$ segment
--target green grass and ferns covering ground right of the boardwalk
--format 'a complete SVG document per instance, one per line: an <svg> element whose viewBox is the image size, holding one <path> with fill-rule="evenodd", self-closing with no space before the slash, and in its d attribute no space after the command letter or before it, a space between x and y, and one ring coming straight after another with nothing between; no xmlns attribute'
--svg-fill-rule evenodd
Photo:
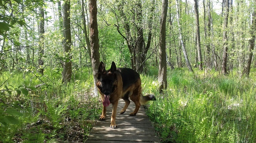
<svg viewBox="0 0 256 143"><path fill-rule="evenodd" d="M169 70L159 94L153 76L144 92L156 95L147 114L161 142L256 142L255 77Z"/></svg>

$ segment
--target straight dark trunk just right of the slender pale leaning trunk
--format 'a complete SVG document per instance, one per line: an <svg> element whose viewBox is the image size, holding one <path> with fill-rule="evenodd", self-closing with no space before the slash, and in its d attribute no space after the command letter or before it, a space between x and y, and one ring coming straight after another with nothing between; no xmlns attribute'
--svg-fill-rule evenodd
<svg viewBox="0 0 256 143"><path fill-rule="evenodd" d="M196 35L197 35L197 53L198 53L198 65L199 70L203 70L203 60L202 60L202 52L201 52L201 41L200 41L200 28L199 28L199 13L198 13L198 3L197 0L195 2L195 17L196 17Z"/></svg>

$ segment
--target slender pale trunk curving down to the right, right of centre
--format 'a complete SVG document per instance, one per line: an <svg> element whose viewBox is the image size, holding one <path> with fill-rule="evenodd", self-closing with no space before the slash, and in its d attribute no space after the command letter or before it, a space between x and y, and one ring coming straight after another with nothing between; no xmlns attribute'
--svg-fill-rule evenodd
<svg viewBox="0 0 256 143"><path fill-rule="evenodd" d="M177 23L178 23L178 29L179 29L179 39L180 39L180 42L181 42L181 46L182 46L182 50L183 50L183 53L184 53L184 57L185 57L185 61L186 61L187 67L188 67L190 72L194 73L194 71L193 71L193 69L192 69L192 67L190 65L190 62L188 60L188 57L187 57L187 52L186 52L186 48L185 48L185 45L184 45L184 42L183 42L182 33L181 33L179 2L178 2L178 0L175 0L175 2L176 2Z"/></svg>

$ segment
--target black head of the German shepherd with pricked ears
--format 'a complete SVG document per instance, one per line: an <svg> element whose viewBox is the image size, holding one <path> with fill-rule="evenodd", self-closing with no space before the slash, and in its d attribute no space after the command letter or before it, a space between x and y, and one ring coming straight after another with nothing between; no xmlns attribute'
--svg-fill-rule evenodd
<svg viewBox="0 0 256 143"><path fill-rule="evenodd" d="M109 70L105 70L105 66L103 62L100 62L98 69L98 82L97 87L100 92L105 96L109 96L111 92L114 90L114 82L116 80L116 64L113 61L111 68Z"/></svg>

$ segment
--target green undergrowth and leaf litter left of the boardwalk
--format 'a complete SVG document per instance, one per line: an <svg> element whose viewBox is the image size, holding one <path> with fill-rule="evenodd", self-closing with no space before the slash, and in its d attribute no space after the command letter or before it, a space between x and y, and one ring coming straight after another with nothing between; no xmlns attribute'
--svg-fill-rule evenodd
<svg viewBox="0 0 256 143"><path fill-rule="evenodd" d="M0 142L84 142L101 112L89 70L74 70L67 85L62 69L45 69L43 76L32 69L3 72Z"/></svg>

